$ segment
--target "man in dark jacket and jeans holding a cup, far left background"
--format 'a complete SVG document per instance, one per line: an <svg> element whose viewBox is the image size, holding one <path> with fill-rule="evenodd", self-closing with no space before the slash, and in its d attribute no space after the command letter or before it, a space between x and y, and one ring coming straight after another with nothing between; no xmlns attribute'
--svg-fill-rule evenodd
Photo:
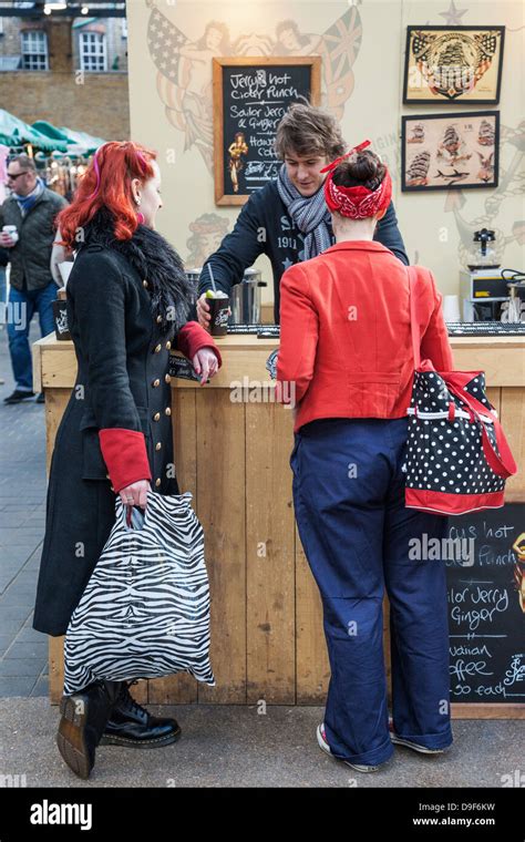
<svg viewBox="0 0 525 842"><path fill-rule="evenodd" d="M11 195L0 206L0 247L9 249L11 264L7 320L16 388L4 403L20 403L34 396L28 339L34 312L39 314L42 336L54 330L52 302L58 287L50 269L53 224L68 203L44 186L29 155L11 158L7 175ZM6 225L14 226L16 232L4 232Z"/></svg>

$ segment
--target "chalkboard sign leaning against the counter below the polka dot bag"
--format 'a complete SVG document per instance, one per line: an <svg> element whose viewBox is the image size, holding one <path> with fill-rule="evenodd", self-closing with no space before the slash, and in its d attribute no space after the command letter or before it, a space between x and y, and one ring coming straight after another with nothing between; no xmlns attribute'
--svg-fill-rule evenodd
<svg viewBox="0 0 525 842"><path fill-rule="evenodd" d="M525 504L451 517L449 540L451 701L524 705Z"/></svg>

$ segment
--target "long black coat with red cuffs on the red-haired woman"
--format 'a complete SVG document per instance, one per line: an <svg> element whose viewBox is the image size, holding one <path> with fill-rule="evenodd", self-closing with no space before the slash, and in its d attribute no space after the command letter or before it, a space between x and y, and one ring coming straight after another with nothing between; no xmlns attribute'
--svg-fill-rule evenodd
<svg viewBox="0 0 525 842"><path fill-rule="evenodd" d="M121 244L117 250L103 236L92 238L78 253L71 270L68 321L79 370L52 455L33 620L33 627L48 635L65 634L115 521L116 492L99 430L142 431L153 491L179 493L168 414L168 358L169 343L175 347L178 328L191 314L191 292L184 298L182 290L184 300L177 302L178 327L177 319L167 326L162 308L169 299L159 294L157 277L163 244L159 235L143 230L141 249L132 243L132 264L126 246ZM142 266L137 255L145 258ZM169 265L161 269L169 271ZM178 279L184 279L181 264L178 269ZM193 327L194 335L200 330L203 338L193 341L192 353L214 345L199 326Z"/></svg>

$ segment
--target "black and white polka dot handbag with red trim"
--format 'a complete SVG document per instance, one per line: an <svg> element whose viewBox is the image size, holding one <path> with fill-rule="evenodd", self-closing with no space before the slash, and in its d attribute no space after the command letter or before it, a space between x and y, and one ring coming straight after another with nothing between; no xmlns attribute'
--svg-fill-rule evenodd
<svg viewBox="0 0 525 842"><path fill-rule="evenodd" d="M408 410L405 505L446 515L498 509L505 479L517 469L485 394L485 374L439 372L430 360L421 362L416 275L412 269L409 274L415 372Z"/></svg>

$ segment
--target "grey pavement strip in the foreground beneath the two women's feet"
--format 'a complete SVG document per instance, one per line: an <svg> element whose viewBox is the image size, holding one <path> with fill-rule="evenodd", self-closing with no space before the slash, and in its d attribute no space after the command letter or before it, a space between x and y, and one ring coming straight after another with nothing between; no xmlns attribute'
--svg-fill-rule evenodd
<svg viewBox="0 0 525 842"><path fill-rule="evenodd" d="M321 708L181 705L174 746L137 751L99 748L90 781L64 766L54 745L58 709L45 699L0 699L0 771L27 787L502 787L523 763L523 723L457 721L446 754L397 748L381 772L361 774L317 747ZM25 776L22 779L22 776Z"/></svg>

